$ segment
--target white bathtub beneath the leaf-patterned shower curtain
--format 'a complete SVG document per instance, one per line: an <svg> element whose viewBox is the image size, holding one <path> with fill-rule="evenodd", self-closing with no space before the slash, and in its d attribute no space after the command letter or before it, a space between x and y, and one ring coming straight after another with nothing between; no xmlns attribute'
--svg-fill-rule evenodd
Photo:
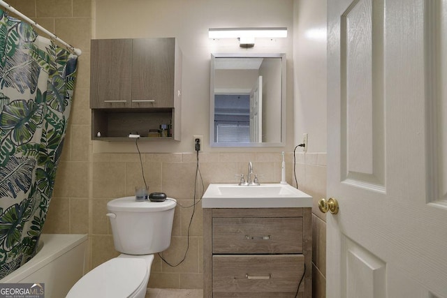
<svg viewBox="0 0 447 298"><path fill-rule="evenodd" d="M87 234L41 234L39 246L34 258L0 283L45 283L45 298L66 297L85 273Z"/></svg>

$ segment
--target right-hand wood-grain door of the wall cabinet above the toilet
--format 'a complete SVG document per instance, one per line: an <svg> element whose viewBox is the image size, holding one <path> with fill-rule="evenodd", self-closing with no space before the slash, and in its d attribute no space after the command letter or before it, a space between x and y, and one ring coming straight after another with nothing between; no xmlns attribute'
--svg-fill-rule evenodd
<svg viewBox="0 0 447 298"><path fill-rule="evenodd" d="M175 38L133 40L132 107L174 107Z"/></svg>

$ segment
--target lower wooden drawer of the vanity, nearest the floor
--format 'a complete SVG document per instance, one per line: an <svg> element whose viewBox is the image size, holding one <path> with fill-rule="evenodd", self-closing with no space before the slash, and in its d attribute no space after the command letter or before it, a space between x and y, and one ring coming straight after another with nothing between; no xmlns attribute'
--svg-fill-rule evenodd
<svg viewBox="0 0 447 298"><path fill-rule="evenodd" d="M213 255L213 298L295 297L304 263L304 255Z"/></svg>

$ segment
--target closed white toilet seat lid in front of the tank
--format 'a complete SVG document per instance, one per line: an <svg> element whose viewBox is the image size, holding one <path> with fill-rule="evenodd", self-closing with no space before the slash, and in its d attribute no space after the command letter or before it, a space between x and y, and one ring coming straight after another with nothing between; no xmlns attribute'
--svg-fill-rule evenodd
<svg viewBox="0 0 447 298"><path fill-rule="evenodd" d="M113 258L82 277L67 298L133 297L150 274L147 262L140 258ZM146 285L144 285L146 288Z"/></svg>

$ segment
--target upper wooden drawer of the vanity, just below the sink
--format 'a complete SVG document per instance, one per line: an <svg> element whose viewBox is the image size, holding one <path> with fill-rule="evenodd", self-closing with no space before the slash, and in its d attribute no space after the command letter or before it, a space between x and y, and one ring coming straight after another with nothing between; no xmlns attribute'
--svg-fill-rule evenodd
<svg viewBox="0 0 447 298"><path fill-rule="evenodd" d="M212 253L302 253L302 217L212 218Z"/></svg>

